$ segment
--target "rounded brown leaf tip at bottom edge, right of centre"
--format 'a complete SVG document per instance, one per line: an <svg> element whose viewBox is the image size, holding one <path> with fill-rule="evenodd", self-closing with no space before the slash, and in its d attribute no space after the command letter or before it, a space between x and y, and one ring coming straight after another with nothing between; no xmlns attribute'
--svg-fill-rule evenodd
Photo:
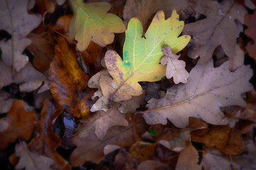
<svg viewBox="0 0 256 170"><path fill-rule="evenodd" d="M192 146L183 149L179 154L179 159L175 167L176 170L191 169L191 170L201 170L202 166L197 164L199 162L199 154L196 149Z"/></svg>

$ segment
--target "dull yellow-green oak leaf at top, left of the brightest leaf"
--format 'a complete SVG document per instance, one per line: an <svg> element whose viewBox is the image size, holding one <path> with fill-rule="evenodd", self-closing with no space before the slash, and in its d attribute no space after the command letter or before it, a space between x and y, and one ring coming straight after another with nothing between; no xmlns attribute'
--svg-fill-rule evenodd
<svg viewBox="0 0 256 170"><path fill-rule="evenodd" d="M107 13L111 5L107 2L87 3L82 0L69 0L74 12L70 23L70 39L78 41L79 51L87 49L93 41L101 47L113 42L113 33L123 33L126 26L118 16Z"/></svg>

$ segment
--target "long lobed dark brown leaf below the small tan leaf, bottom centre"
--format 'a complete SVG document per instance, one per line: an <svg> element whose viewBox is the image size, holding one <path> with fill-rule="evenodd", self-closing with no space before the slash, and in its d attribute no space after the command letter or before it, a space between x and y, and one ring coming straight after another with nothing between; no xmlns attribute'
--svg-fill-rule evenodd
<svg viewBox="0 0 256 170"><path fill-rule="evenodd" d="M143 118L135 115L128 115L128 127L113 126L108 129L103 140L99 140L94 132L87 137L79 137L79 132L74 136L74 145L77 148L72 152L69 160L72 166L79 166L86 161L99 162L104 157L106 145L118 145L120 147L131 147L141 139L141 135L148 130L148 125Z"/></svg>

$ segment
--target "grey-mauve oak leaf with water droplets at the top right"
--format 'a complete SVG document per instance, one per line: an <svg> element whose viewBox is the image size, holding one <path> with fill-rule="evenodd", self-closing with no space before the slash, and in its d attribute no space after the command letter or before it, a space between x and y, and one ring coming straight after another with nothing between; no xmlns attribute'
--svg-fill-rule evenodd
<svg viewBox="0 0 256 170"><path fill-rule="evenodd" d="M218 1L200 0L196 1L193 8L206 18L189 23L184 28L184 33L193 35L191 42L194 47L189 52L189 57L200 56L201 64L206 64L218 45L223 47L228 58L235 57L237 54L234 49L238 34L235 21L244 23L244 16L247 13L245 8L233 0L225 0L221 4ZM239 65L242 66L243 61Z"/></svg>

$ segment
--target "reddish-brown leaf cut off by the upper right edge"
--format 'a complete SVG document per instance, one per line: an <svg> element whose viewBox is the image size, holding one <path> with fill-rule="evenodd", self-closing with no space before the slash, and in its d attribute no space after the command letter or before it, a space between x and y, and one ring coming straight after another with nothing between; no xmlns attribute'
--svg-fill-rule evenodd
<svg viewBox="0 0 256 170"><path fill-rule="evenodd" d="M254 41L253 44L249 44L246 46L246 50L249 53L250 57L256 60L256 12L254 12L252 15L245 15L245 25L248 27L248 29L245 30L245 35L252 38L252 40Z"/></svg>

